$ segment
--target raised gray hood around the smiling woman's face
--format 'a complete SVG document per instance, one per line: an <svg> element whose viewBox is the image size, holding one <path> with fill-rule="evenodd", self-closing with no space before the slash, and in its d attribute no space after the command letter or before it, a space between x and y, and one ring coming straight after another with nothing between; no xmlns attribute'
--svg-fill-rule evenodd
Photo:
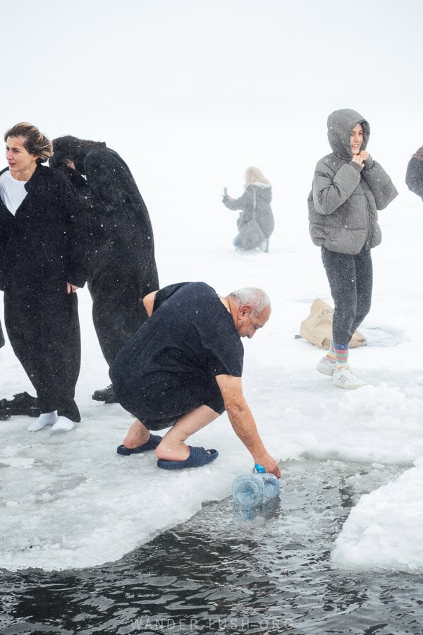
<svg viewBox="0 0 423 635"><path fill-rule="evenodd" d="M351 159L350 135L357 123L363 126L363 143L361 150L365 150L369 142L369 123L355 110L348 108L333 111L328 117L328 139L333 152L343 159Z"/></svg>

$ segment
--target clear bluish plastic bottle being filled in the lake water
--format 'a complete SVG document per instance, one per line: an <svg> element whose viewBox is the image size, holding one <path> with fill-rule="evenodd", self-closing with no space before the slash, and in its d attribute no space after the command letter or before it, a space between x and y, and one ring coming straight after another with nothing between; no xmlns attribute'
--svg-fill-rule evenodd
<svg viewBox="0 0 423 635"><path fill-rule="evenodd" d="M243 474L233 481L232 496L240 509L254 509L279 493L279 481L274 474L266 473L262 465L255 465L251 474Z"/></svg>

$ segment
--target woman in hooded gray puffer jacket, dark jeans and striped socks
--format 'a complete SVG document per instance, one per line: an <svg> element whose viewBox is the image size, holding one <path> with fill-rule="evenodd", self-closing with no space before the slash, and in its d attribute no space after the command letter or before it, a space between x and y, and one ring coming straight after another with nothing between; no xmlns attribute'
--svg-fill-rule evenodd
<svg viewBox="0 0 423 635"><path fill-rule="evenodd" d="M333 339L317 370L341 388L364 386L348 367L348 348L372 301L372 256L381 242L377 210L398 195L384 169L366 151L369 123L350 109L328 118L333 152L317 163L309 193L309 231L321 258L335 303Z"/></svg>

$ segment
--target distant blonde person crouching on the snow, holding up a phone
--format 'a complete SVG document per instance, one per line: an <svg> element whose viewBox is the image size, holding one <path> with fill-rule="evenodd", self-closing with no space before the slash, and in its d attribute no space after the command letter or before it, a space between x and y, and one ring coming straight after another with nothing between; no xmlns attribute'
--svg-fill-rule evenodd
<svg viewBox="0 0 423 635"><path fill-rule="evenodd" d="M237 226L238 236L233 239L233 245L237 249L252 249L256 246L262 251L269 250L269 238L274 231L274 215L271 211L271 183L266 179L263 172L255 167L249 167L245 170L245 192L240 198L232 198L231 196L223 196L223 205L228 210L242 210L240 213ZM245 227L253 218L256 219L257 225L262 230L261 240L257 238L257 245L254 247L243 246L243 227Z"/></svg>

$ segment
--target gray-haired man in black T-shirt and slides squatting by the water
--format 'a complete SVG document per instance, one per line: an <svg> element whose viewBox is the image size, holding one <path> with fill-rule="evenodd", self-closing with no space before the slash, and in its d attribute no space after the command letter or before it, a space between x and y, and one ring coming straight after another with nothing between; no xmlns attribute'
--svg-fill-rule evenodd
<svg viewBox="0 0 423 635"><path fill-rule="evenodd" d="M153 291L144 305L149 319L110 370L118 401L137 417L118 454L155 449L157 465L165 469L210 463L218 456L215 449L185 441L226 410L254 462L281 476L259 436L241 380L240 337L252 337L269 320L269 297L255 288L221 297L204 282L183 282ZM163 438L149 432L169 426Z"/></svg>

